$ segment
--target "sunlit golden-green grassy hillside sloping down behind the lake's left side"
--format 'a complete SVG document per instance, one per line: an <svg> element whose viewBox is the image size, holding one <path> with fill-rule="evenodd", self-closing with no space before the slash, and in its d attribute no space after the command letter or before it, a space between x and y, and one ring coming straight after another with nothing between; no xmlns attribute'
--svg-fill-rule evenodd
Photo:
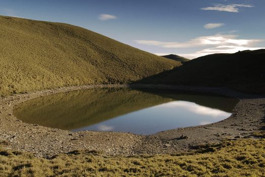
<svg viewBox="0 0 265 177"><path fill-rule="evenodd" d="M129 83L180 65L90 30L0 16L0 95Z"/></svg>

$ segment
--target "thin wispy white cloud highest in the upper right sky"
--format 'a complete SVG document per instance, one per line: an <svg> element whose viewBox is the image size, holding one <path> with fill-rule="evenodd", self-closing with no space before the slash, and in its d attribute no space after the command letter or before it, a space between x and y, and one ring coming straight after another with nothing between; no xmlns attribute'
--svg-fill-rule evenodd
<svg viewBox="0 0 265 177"><path fill-rule="evenodd" d="M225 12L239 12L239 8L252 8L252 5L246 4L230 4L230 5L222 5L222 4L215 4L213 7L206 7L201 8L201 10L210 10L210 11L225 11Z"/></svg>

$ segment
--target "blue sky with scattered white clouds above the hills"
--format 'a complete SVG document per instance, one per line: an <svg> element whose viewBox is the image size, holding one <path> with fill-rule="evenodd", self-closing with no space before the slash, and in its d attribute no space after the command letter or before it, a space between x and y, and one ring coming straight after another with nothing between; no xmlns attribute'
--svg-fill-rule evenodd
<svg viewBox="0 0 265 177"><path fill-rule="evenodd" d="M84 27L189 59L265 48L264 0L0 0L0 15Z"/></svg>

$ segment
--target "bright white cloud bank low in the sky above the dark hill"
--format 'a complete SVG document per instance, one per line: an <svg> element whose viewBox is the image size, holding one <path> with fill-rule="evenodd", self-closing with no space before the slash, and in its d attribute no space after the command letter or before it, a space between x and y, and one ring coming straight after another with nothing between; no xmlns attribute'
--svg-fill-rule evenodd
<svg viewBox="0 0 265 177"><path fill-rule="evenodd" d="M230 31L236 32L236 31ZM245 50L258 50L265 49L265 46L256 47L259 42L264 41L263 39L241 39L238 35L234 34L215 34L212 36L201 36L186 42L163 42L154 40L137 40L137 43L144 45L158 46L161 48L196 48L201 49L192 53L177 53L182 57L188 59L194 59L197 57L214 54L214 53L235 53L238 51ZM174 53L173 53L174 54ZM156 55L168 55L168 53L157 53Z"/></svg>

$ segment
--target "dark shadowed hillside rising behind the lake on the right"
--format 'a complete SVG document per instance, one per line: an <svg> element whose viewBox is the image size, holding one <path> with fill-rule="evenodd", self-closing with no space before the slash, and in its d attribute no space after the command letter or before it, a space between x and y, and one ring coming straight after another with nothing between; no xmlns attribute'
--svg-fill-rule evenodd
<svg viewBox="0 0 265 177"><path fill-rule="evenodd" d="M141 80L141 83L223 86L265 94L265 50L213 54Z"/></svg>

